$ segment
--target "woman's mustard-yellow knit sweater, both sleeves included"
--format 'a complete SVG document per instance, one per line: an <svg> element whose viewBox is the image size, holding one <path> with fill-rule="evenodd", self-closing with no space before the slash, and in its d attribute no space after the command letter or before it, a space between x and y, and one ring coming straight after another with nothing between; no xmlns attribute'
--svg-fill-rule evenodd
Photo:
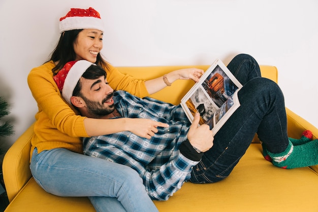
<svg viewBox="0 0 318 212"><path fill-rule="evenodd" d="M35 115L35 135L31 140L31 155L37 147L38 153L52 148L67 148L76 153L83 152L80 137L88 137L85 117L66 103L53 80L52 61L30 71L27 82L31 93L38 103L39 111ZM109 65L106 69L107 81L114 90L127 90L139 97L148 96L144 81L120 73Z"/></svg>

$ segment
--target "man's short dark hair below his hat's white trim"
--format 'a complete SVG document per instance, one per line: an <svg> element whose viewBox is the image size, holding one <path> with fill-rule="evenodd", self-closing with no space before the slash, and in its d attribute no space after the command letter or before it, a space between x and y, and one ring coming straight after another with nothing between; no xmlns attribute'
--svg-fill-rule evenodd
<svg viewBox="0 0 318 212"><path fill-rule="evenodd" d="M86 69L86 71L82 74L82 77L84 77L85 79L98 79L101 76L104 76L106 78L106 72L105 70L97 65L91 65L90 67L88 67L88 69ZM80 82L80 80L78 80L74 90L73 90L73 95L75 97L83 97L81 94L81 89L82 89L82 84Z"/></svg>

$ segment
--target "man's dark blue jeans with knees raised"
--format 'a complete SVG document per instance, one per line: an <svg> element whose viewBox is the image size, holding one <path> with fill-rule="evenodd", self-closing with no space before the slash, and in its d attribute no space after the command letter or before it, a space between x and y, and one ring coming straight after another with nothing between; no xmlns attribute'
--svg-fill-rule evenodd
<svg viewBox="0 0 318 212"><path fill-rule="evenodd" d="M212 148L193 168L193 183L226 178L255 133L272 153L283 152L289 144L284 98L278 85L261 77L259 65L250 55L237 55L228 68L243 85L238 93L241 106L216 133Z"/></svg>

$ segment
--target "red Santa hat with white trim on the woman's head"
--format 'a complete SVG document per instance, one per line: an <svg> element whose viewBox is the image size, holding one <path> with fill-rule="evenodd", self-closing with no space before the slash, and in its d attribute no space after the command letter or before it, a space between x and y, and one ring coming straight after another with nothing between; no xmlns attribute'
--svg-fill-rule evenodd
<svg viewBox="0 0 318 212"><path fill-rule="evenodd" d="M59 19L59 32L73 29L99 29L104 32L104 23L99 12L93 8L79 9L71 8L66 16Z"/></svg>

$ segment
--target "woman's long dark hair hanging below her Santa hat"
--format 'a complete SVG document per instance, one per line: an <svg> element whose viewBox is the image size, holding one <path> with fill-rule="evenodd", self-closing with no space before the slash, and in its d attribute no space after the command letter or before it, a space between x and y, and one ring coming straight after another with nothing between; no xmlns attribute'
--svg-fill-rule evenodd
<svg viewBox="0 0 318 212"><path fill-rule="evenodd" d="M58 64L52 69L53 75L65 66L66 63L76 59L76 53L74 51L74 42L76 41L78 34L83 29L73 29L63 32L59 38L56 48L52 52L50 60L58 62ZM49 61L50 61L49 60ZM107 62L103 59L101 53L97 55L96 63L107 68Z"/></svg>

